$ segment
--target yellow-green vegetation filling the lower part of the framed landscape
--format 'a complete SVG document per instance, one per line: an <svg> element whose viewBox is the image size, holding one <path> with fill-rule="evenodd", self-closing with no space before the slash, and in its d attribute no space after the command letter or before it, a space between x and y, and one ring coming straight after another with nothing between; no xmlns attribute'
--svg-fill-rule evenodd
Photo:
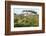
<svg viewBox="0 0 46 36"><path fill-rule="evenodd" d="M38 15L14 15L14 27L36 27L39 24Z"/></svg>

